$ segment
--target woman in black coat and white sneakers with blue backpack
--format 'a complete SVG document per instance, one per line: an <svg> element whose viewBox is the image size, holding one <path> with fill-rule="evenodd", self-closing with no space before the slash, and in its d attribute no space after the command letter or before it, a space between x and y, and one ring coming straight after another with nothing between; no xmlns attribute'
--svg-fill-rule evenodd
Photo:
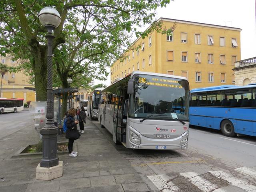
<svg viewBox="0 0 256 192"><path fill-rule="evenodd" d="M70 108L68 110L68 115L66 116L66 138L68 139L68 152L70 157L76 157L77 152L73 151L73 143L74 140L80 137L78 130L76 128L76 124L78 124L78 120L75 120L76 109Z"/></svg>

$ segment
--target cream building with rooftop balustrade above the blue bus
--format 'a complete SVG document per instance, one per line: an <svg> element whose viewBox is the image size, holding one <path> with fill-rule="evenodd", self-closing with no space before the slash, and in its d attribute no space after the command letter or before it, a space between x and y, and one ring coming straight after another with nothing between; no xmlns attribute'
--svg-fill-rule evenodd
<svg viewBox="0 0 256 192"><path fill-rule="evenodd" d="M233 71L235 85L243 86L256 83L256 57L236 62Z"/></svg>

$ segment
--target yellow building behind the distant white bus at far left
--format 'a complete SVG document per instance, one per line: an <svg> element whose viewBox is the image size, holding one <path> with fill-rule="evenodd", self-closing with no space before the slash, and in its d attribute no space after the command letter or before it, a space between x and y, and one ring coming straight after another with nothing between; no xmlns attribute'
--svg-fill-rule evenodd
<svg viewBox="0 0 256 192"><path fill-rule="evenodd" d="M12 56L0 56L0 62L7 66L18 66L19 62L12 60ZM29 84L30 76L26 76L22 72L12 73L7 72L3 76L2 94L0 97L6 98L24 98L24 103L27 101L36 100L36 92L25 89L24 87L34 87Z"/></svg>

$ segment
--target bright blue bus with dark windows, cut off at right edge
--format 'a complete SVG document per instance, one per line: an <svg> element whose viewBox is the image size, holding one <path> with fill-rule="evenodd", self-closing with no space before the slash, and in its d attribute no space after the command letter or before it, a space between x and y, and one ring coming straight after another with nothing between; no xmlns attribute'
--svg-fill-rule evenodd
<svg viewBox="0 0 256 192"><path fill-rule="evenodd" d="M221 130L228 137L256 136L256 84L191 90L190 124Z"/></svg>

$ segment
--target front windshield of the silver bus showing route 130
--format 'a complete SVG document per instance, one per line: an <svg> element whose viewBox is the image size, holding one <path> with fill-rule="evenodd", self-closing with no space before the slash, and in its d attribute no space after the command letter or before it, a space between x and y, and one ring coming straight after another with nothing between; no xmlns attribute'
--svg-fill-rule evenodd
<svg viewBox="0 0 256 192"><path fill-rule="evenodd" d="M130 118L188 121L189 84L178 78L136 74Z"/></svg>

